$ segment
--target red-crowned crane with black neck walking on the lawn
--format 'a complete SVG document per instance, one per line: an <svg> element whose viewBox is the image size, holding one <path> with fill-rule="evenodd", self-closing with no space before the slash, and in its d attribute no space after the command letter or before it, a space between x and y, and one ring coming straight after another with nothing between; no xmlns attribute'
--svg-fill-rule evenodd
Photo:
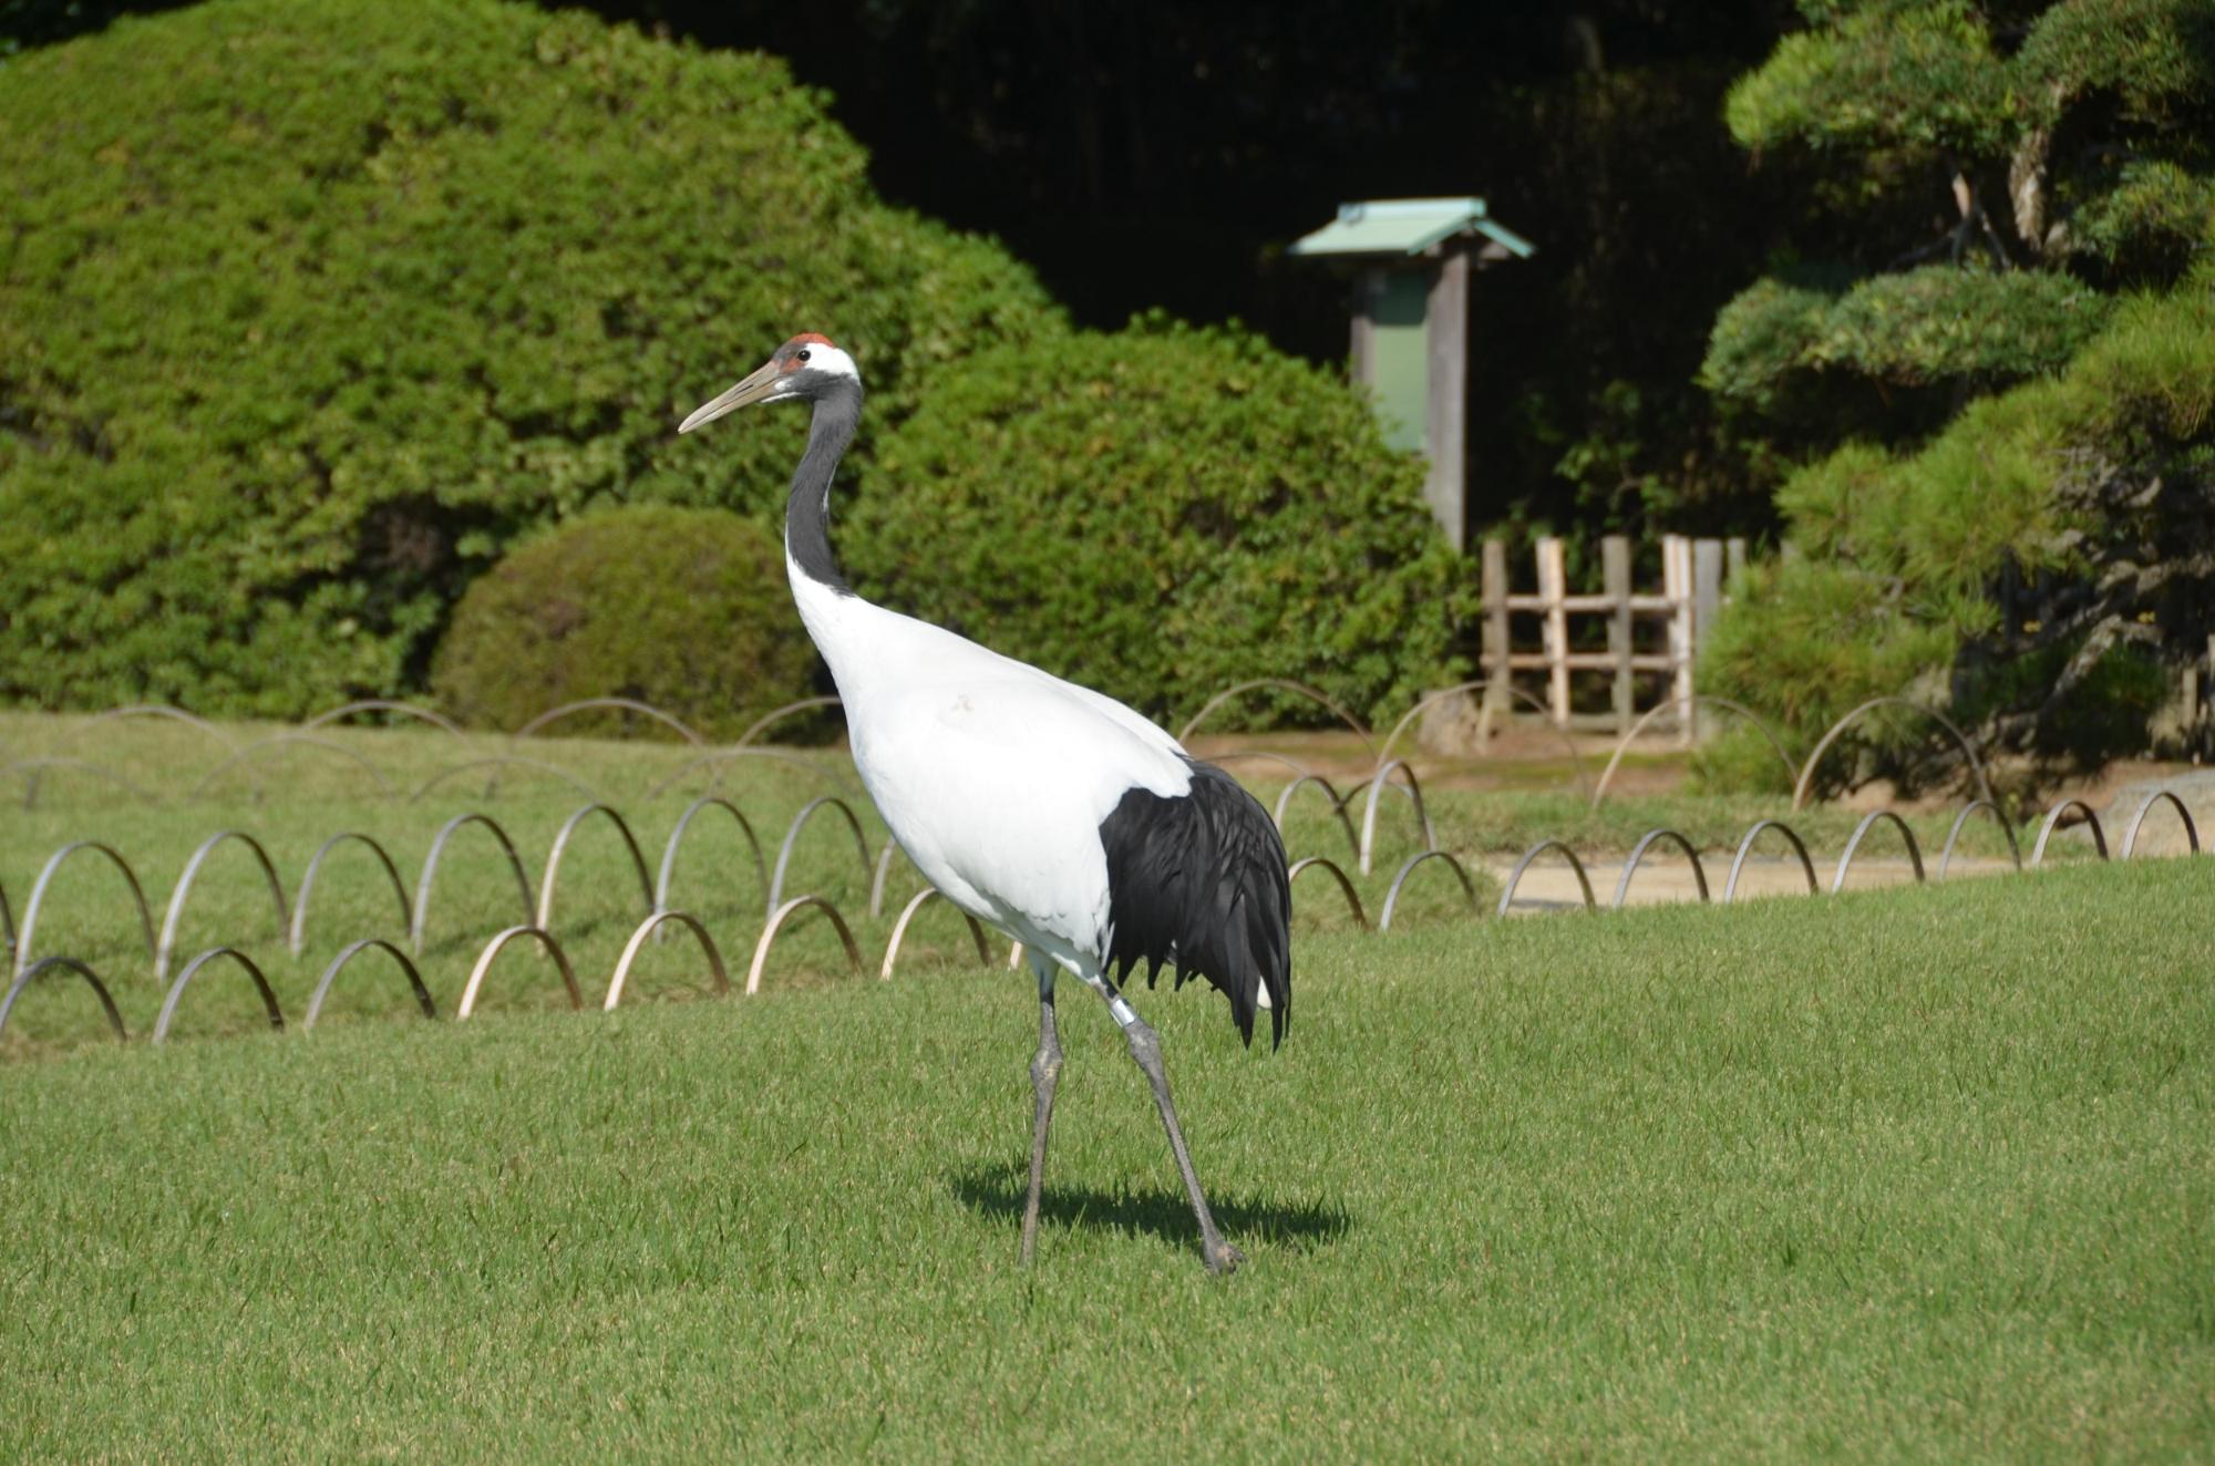
<svg viewBox="0 0 2215 1466"><path fill-rule="evenodd" d="M1291 888L1276 826L1236 780L1114 698L855 596L831 556L828 518L831 476L862 421L862 374L828 337L793 337L678 432L782 401L815 403L784 505L784 565L846 704L862 782L917 870L1021 941L1039 979L1023 1262L1061 1076L1054 977L1072 972L1105 999L1154 1087L1207 1269L1232 1271L1245 1258L1216 1231L1192 1171L1161 1039L1116 983L1132 963L1145 963L1147 981L1170 963L1178 985L1201 974L1229 997L1247 1043L1256 1008L1282 1041Z"/></svg>

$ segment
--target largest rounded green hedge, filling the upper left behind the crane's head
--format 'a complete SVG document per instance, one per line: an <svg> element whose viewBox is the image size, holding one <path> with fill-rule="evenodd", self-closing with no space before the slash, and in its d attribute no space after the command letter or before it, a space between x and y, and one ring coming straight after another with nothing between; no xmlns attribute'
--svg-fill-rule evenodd
<svg viewBox="0 0 2215 1466"><path fill-rule="evenodd" d="M777 62L492 0L235 0L22 53L0 173L9 700L401 691L536 525L769 512L800 421L671 425L793 330L868 363L884 425L1059 321L879 206Z"/></svg>

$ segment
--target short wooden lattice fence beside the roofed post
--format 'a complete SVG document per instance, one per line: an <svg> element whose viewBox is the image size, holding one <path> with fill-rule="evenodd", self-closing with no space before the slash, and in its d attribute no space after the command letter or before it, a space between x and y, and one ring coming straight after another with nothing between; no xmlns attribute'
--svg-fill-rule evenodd
<svg viewBox="0 0 2215 1466"><path fill-rule="evenodd" d="M1513 720L1517 706L1508 691L1515 673L1544 671L1546 720L1559 729L1606 729L1628 733L1639 713L1655 704L1690 706L1692 673L1699 647L1723 605L1723 585L1745 565L1745 540L1694 540L1681 534L1661 538L1661 589L1639 591L1630 585L1630 540L1610 534L1599 540L1597 593L1568 589L1568 551L1559 538L1535 545L1537 593L1515 591L1508 582L1508 549L1484 540L1484 720L1486 726ZM1517 649L1515 618L1537 613L1537 649ZM1606 649L1577 651L1570 618L1606 618ZM1663 622L1659 649L1637 649L1637 622ZM1595 638L1582 638L1590 644ZM1613 673L1606 711L1577 711L1570 673ZM1659 686L1659 698L1639 706L1639 673L1657 673L1646 682ZM1694 737L1699 717L1679 713L1675 722L1681 742Z"/></svg>

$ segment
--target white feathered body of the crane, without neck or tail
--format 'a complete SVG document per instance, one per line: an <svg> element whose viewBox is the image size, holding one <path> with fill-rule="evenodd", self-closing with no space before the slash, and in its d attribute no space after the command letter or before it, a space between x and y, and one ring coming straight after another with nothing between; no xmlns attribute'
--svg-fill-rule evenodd
<svg viewBox="0 0 2215 1466"><path fill-rule="evenodd" d="M1114 698L844 596L786 558L853 762L915 868L1063 970L1108 950L1101 822L1130 788L1192 788L1183 749Z"/></svg>

